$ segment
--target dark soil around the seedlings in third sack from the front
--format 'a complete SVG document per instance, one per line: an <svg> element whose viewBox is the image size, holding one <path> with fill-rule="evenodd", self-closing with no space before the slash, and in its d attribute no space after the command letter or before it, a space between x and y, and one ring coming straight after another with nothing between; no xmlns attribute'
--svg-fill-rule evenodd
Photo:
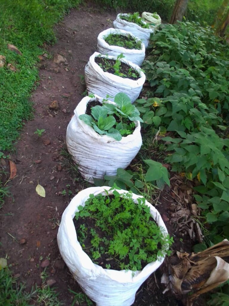
<svg viewBox="0 0 229 306"><path fill-rule="evenodd" d="M113 66L116 63L116 60L97 56L95 57L94 61L103 69L104 72L109 72L112 74L115 73ZM109 65L107 65L107 63L109 63ZM140 74L135 69L123 62L121 62L119 73L124 74L124 76L120 76L124 79L138 80L140 78ZM128 76L128 73L130 76ZM134 73L136 76L131 76L132 73Z"/></svg>

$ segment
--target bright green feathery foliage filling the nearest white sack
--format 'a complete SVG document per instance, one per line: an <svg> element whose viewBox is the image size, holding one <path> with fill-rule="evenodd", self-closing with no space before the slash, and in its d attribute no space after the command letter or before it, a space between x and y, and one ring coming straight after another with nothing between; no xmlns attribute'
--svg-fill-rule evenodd
<svg viewBox="0 0 229 306"><path fill-rule="evenodd" d="M112 195L90 194L85 206L78 206L76 220L83 222L77 237L88 256L95 263L101 256L112 258L120 270L136 271L169 253L172 238L154 222L146 200L139 197L135 203L131 192L110 190Z"/></svg>

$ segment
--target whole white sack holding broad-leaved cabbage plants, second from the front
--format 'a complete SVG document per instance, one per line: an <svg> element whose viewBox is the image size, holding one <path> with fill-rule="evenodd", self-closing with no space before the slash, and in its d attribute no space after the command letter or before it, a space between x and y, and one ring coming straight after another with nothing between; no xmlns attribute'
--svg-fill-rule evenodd
<svg viewBox="0 0 229 306"><path fill-rule="evenodd" d="M115 102L85 97L68 124L66 144L86 180L116 175L126 168L142 145L142 119L129 97L119 93Z"/></svg>

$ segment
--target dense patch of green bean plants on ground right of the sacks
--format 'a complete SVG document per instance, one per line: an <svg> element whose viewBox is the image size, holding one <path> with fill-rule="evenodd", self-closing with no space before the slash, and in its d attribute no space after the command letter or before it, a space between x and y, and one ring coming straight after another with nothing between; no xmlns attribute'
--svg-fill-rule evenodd
<svg viewBox="0 0 229 306"><path fill-rule="evenodd" d="M228 55L211 28L162 25L143 65L150 96L135 102L146 129L170 132L165 161L195 182L211 243L229 237Z"/></svg>

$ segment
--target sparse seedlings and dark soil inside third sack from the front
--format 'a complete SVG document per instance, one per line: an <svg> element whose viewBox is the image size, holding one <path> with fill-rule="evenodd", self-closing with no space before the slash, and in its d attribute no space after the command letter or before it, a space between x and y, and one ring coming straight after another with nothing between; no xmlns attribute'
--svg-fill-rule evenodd
<svg viewBox="0 0 229 306"><path fill-rule="evenodd" d="M95 62L98 63L104 72L113 73L116 76L131 78L133 80L139 79L140 74L135 69L120 61L124 57L123 53L121 53L117 56L116 60L113 60L100 54L100 56L95 58Z"/></svg>

